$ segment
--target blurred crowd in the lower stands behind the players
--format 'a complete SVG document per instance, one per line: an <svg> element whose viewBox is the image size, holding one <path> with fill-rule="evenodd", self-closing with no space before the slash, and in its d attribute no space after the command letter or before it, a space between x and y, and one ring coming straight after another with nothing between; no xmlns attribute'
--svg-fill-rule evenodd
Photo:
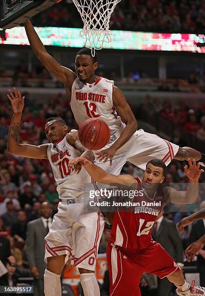
<svg viewBox="0 0 205 296"><path fill-rule="evenodd" d="M19 141L21 143L34 145L47 143L44 134L44 124L49 117L60 116L65 119L70 130L78 128L70 105L62 95L59 94L56 97L50 98L49 104L41 104L31 98L29 93L24 95L26 96L26 105L19 134ZM147 96L141 109L146 112L147 116L157 112L159 116L174 120L189 133L195 133L197 137L205 140L205 106L190 109L183 102L173 106L168 100L162 103L158 99L153 101ZM136 111L133 109L137 118L139 114ZM9 239L10 243L10 253L6 253L4 258L5 265L10 268L8 257L12 255L15 257L15 271L12 269L14 271L12 271L13 274L17 270L20 273L23 272L24 275L27 274L27 276L35 277L37 271L29 265L28 253L26 251L28 225L30 225L28 223L46 215L46 219L48 217L52 219L57 212L59 199L51 166L47 160L25 159L7 152L7 134L12 115L10 104L6 104L5 101L3 102L0 99L0 237ZM179 145L186 145L186 143L181 142L180 134L177 135L177 133L173 141ZM177 183L177 188L186 190L188 179L183 170L184 165L185 162L177 161L173 161L169 165L165 185ZM132 174L142 178L143 171L130 163L126 163L122 174ZM204 175L201 177L201 182L203 181L205 181ZM201 185L196 204L171 207L166 217L176 224L181 218L197 211L203 205L205 207L205 202L203 204L205 188L203 184ZM47 203L46 208L44 206L45 203ZM180 237L184 248L188 246L190 233L191 226L187 227ZM104 233L99 252L106 252L108 238L109 233ZM13 278L13 280L15 279ZM147 281L146 279L143 280L142 285ZM147 296L149 294L144 295Z"/></svg>

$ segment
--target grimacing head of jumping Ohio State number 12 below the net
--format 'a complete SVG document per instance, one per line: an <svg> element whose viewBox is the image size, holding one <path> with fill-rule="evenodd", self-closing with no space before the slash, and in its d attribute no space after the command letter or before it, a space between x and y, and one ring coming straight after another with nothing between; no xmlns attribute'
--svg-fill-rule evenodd
<svg viewBox="0 0 205 296"><path fill-rule="evenodd" d="M81 81L92 83L90 78L94 78L98 63L93 63L92 57L88 55L77 55L75 58L75 71Z"/></svg>

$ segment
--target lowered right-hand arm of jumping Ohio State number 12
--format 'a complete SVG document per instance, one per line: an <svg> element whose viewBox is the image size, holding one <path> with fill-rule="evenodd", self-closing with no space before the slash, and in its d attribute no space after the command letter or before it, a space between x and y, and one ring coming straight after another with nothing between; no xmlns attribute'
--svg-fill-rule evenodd
<svg viewBox="0 0 205 296"><path fill-rule="evenodd" d="M118 115L126 124L126 127L122 131L117 141L110 148L96 153L99 155L99 161L105 162L110 159L110 165L112 165L112 159L117 150L122 147L137 130L137 121L134 117L134 114L132 113L131 107L127 103L123 92L116 86L113 86L113 104L117 109Z"/></svg>

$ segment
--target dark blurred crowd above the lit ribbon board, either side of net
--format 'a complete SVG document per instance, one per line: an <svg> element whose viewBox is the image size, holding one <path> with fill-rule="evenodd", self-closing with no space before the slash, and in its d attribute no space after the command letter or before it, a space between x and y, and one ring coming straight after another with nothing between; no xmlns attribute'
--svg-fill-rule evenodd
<svg viewBox="0 0 205 296"><path fill-rule="evenodd" d="M62 0L33 17L33 23L38 27L83 27L72 0ZM121 0L110 19L111 30L203 33L204 28L204 0Z"/></svg>

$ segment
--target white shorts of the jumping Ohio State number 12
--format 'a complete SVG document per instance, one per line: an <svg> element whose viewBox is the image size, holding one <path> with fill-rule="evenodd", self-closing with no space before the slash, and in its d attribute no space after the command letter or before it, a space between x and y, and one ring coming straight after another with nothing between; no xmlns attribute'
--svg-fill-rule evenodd
<svg viewBox="0 0 205 296"><path fill-rule="evenodd" d="M113 143L114 141L110 141L103 149L109 148ZM161 159L168 165L175 157L178 149L179 146L160 138L156 134L139 130L132 135L127 143L117 150L112 166L110 166L109 160L103 163L96 159L95 164L102 167L108 174L119 175L123 165L127 161L143 170L146 169L146 163L152 159Z"/></svg>

